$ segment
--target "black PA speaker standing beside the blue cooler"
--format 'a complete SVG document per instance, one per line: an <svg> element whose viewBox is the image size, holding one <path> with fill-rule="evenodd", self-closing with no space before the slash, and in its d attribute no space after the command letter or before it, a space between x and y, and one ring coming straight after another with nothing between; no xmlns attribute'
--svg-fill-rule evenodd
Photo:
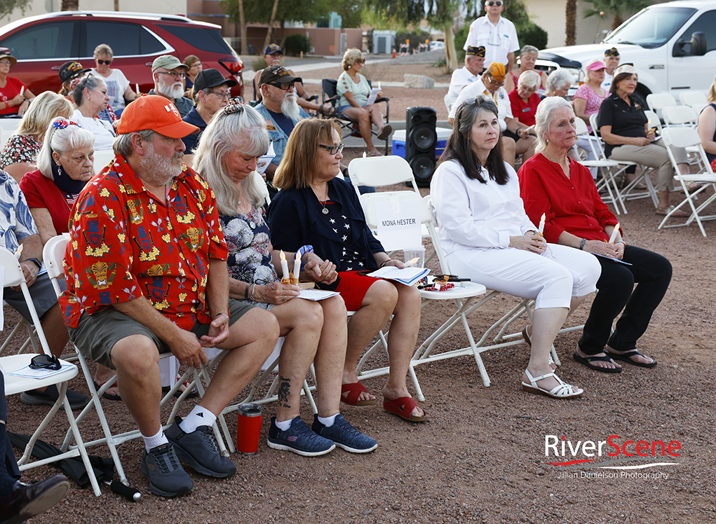
<svg viewBox="0 0 716 524"><path fill-rule="evenodd" d="M432 107L408 107L405 112L405 159L420 187L430 186L435 171L437 116Z"/></svg>

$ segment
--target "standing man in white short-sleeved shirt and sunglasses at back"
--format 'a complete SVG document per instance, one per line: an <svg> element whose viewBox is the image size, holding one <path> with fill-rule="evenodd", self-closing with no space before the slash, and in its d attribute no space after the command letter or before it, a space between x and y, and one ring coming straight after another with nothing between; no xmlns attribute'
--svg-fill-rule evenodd
<svg viewBox="0 0 716 524"><path fill-rule="evenodd" d="M470 24L468 39L463 49L470 46L485 47L485 63L499 62L507 71L515 64L515 51L520 49L515 24L501 16L505 9L503 0L485 1L485 13Z"/></svg>

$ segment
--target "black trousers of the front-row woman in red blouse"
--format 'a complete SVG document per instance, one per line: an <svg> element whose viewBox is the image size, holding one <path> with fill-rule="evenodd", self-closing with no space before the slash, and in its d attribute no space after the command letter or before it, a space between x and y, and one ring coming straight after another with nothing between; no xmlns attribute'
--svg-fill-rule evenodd
<svg viewBox="0 0 716 524"><path fill-rule="evenodd" d="M617 351L634 350L667 292L671 263L660 254L634 246L624 249L624 262L631 266L604 257L597 259L601 264L601 277L596 282L599 292L584 324L579 348L587 355L604 351L607 344ZM609 337L611 325L622 309L624 313Z"/></svg>

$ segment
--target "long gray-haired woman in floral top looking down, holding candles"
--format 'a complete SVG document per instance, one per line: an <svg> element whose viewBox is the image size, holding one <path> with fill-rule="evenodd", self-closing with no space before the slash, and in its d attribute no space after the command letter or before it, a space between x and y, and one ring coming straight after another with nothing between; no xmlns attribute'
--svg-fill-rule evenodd
<svg viewBox="0 0 716 524"><path fill-rule="evenodd" d="M377 447L340 415L341 370L346 351L346 307L339 295L319 302L297 299L299 287L282 284L279 252L263 221L263 179L256 160L269 149L266 120L255 109L232 101L206 127L195 166L211 185L226 238L229 297L263 307L286 337L279 356L279 406L271 418L269 447L299 455L329 453L335 445L353 453ZM294 251L299 251L295 249ZM289 270L294 253L287 253ZM333 282L335 265L301 249L304 278ZM289 277L289 275L281 275ZM311 362L316 368L318 415L312 427L300 416L301 385Z"/></svg>

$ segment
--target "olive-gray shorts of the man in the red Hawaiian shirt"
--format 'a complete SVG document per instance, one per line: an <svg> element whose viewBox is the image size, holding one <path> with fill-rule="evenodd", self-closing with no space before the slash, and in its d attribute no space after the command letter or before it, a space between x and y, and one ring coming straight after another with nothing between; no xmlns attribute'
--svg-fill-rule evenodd
<svg viewBox="0 0 716 524"><path fill-rule="evenodd" d="M228 309L231 312L231 317L228 320L229 325L233 325L253 307L246 302L230 298L228 300ZM202 335L208 335L209 325L196 322L190 331L200 338ZM150 338L160 353L169 351L169 346L148 327L127 317L124 313L120 313L114 307L106 307L94 315L82 313L82 317L79 317L79 325L69 328L69 337L77 346L77 350L82 352L82 355L112 369L115 369L110 357L112 347L115 347L115 344L123 338L132 335L144 335Z"/></svg>

